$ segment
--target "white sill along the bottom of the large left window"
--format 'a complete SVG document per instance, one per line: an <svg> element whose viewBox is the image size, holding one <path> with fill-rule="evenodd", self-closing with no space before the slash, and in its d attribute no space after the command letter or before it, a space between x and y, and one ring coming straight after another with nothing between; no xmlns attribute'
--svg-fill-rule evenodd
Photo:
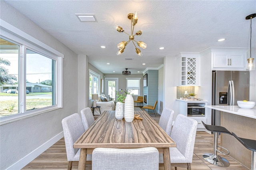
<svg viewBox="0 0 256 170"><path fill-rule="evenodd" d="M8 123L15 122L15 121L20 121L22 119L27 119L27 118L30 118L30 117L34 117L36 115L41 115L41 114L44 114L44 113L48 113L50 111L54 111L54 110L57 110L57 109L61 109L61 107L57 107L57 106L52 107L51 106L51 107L47 107L47 108L38 109L36 111L29 111L29 112L26 112L26 113L20 113L20 114L18 113L18 114L6 116L6 117L0 117L0 126L8 124Z"/></svg>

